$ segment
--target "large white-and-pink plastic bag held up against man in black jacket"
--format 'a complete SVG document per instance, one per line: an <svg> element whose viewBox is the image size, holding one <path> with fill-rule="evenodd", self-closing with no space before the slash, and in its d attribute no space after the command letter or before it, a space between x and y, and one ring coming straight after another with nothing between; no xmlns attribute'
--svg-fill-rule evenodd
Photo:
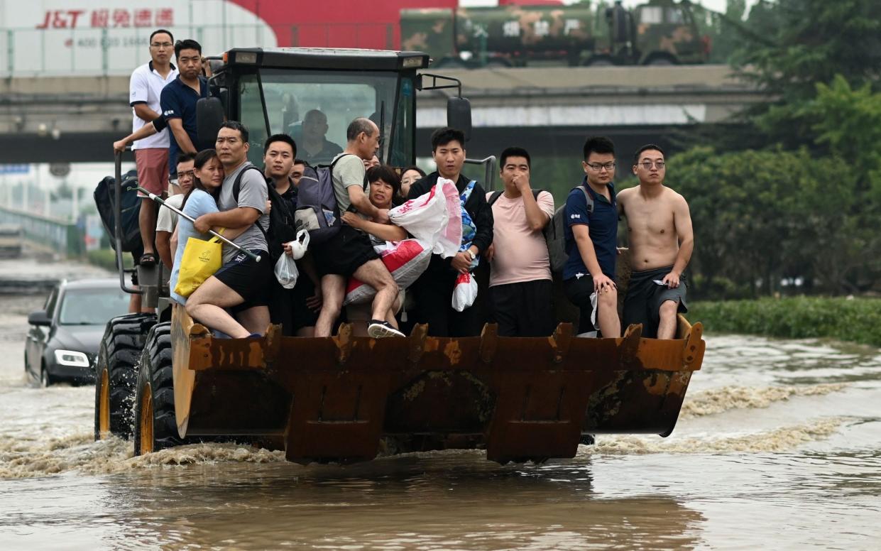
<svg viewBox="0 0 881 551"><path fill-rule="evenodd" d="M454 208L455 205L455 208ZM455 184L444 178L426 194L389 211L389 220L428 243L434 254L455 256L462 242L462 209Z"/></svg>

